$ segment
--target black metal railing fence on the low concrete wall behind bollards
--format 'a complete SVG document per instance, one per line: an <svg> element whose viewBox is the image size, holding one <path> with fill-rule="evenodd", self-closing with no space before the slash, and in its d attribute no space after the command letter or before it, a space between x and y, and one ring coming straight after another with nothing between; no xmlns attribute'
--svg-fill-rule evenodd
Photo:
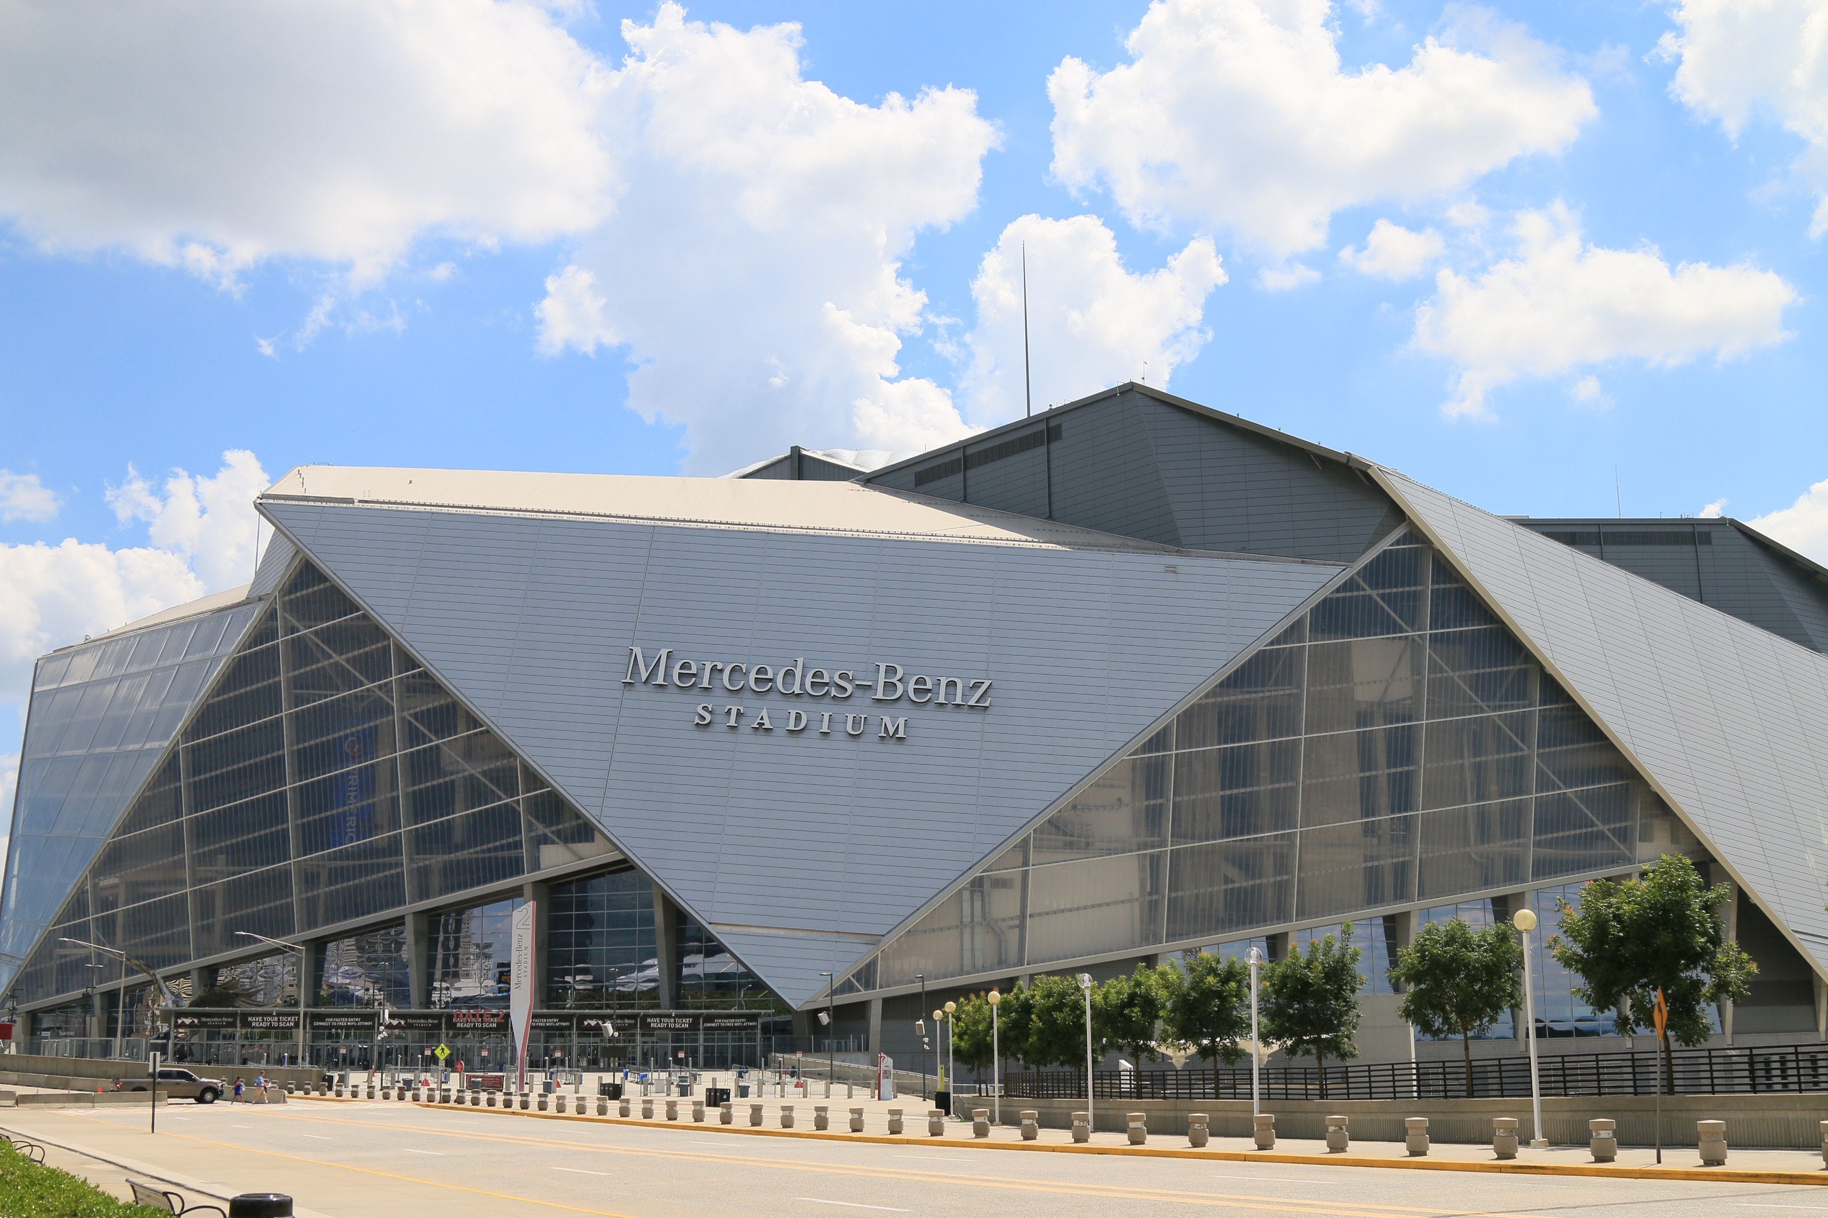
<svg viewBox="0 0 1828 1218"><path fill-rule="evenodd" d="M1537 1057L1545 1096L1654 1096L1658 1052L1554 1054ZM1250 1099L1250 1070L1188 1065L1183 1070L1099 1070L1099 1099ZM1828 1045L1771 1048L1678 1048L1671 1054L1669 1088L1678 1094L1828 1090ZM1387 1061L1263 1070L1265 1099L1462 1099L1462 1061ZM1011 1070L1004 1094L1022 1099L1079 1099L1084 1070ZM1528 1096L1530 1059L1473 1061L1472 1096Z"/></svg>

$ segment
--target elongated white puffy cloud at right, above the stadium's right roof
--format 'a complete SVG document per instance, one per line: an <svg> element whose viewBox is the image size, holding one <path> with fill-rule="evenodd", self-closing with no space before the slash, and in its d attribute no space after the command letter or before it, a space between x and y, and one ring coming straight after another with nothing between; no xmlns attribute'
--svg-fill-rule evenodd
<svg viewBox="0 0 1828 1218"><path fill-rule="evenodd" d="M1435 298L1417 307L1415 347L1459 367L1448 415L1484 416L1490 389L1525 378L1612 360L1729 360L1788 338L1797 289L1775 272L1592 247L1559 203L1521 212L1512 232L1514 257L1477 276L1439 272Z"/></svg>

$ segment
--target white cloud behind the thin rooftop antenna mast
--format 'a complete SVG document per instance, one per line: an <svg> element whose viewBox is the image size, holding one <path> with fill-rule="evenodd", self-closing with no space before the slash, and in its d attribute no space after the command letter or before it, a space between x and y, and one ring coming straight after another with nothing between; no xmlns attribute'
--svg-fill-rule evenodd
<svg viewBox="0 0 1828 1218"><path fill-rule="evenodd" d="M1168 385L1210 334L1206 296L1225 283L1212 241L1196 237L1166 267L1132 272L1097 215L1024 215L983 256L971 294L963 387L971 418L1000 424L1024 411L1022 247L1027 245L1029 367L1035 409L1124 380Z"/></svg>

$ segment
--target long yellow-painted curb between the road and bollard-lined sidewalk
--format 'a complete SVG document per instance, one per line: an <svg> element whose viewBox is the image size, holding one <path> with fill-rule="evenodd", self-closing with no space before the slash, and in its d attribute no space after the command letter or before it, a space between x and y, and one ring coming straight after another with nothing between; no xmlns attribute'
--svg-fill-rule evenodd
<svg viewBox="0 0 1828 1218"><path fill-rule="evenodd" d="M298 1096L325 1103L355 1103L335 1096ZM382 1103L364 1099L362 1103ZM399 1103L399 1101L388 1101ZM967 1147L972 1150L1024 1150L1029 1154L1117 1154L1128 1158L1155 1160L1201 1160L1208 1163L1309 1163L1318 1167L1387 1167L1397 1171L1424 1172L1490 1172L1512 1176L1601 1176L1610 1180L1711 1180L1716 1183L1784 1183L1784 1185L1828 1185L1828 1167L1824 1171L1737 1171L1729 1167L1605 1167L1600 1163L1514 1163L1497 1160L1428 1160L1428 1158L1367 1158L1356 1154L1278 1154L1274 1150L1196 1150L1192 1147L1095 1147L1080 1143L1046 1141L989 1141L980 1138L929 1138L918 1134L850 1134L843 1130L819 1132L813 1129L766 1129L753 1125L715 1125L711 1121L643 1121L640 1118L620 1116L579 1116L576 1112L521 1112L519 1108L472 1108L464 1105L441 1105L419 1101L415 1108L433 1108L439 1112L494 1112L499 1116L532 1118L537 1121L565 1121L567 1125L629 1125L636 1129L689 1129L693 1132L737 1134L746 1138L804 1138L813 1141L845 1141L883 1147ZM925 1118L921 1118L925 1119Z"/></svg>

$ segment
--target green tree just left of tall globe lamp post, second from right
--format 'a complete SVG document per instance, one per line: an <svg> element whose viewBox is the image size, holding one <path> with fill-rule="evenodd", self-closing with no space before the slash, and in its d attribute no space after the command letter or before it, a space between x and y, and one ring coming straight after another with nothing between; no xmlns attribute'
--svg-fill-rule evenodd
<svg viewBox="0 0 1828 1218"><path fill-rule="evenodd" d="M1466 1096L1473 1094L1473 1035L1492 1030L1504 1012L1523 1006L1523 944L1504 926L1473 929L1461 919L1429 922L1397 951L1389 979L1404 988L1397 1013L1422 1035L1459 1035Z"/></svg>

